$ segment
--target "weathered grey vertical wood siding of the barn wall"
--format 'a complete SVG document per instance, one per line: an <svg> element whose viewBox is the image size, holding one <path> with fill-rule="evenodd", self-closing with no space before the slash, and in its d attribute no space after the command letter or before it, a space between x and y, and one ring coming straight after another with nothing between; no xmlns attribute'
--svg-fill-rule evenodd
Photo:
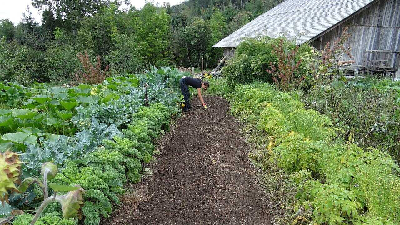
<svg viewBox="0 0 400 225"><path fill-rule="evenodd" d="M327 32L311 45L319 49L320 46L323 48L329 42L332 46L346 27L348 27L348 33L352 35L346 45L352 47L351 53L356 64L362 64L365 50L398 51L400 50L400 0L379 0ZM348 56L341 58L341 60L349 59ZM396 73L396 76L400 77L400 71Z"/></svg>

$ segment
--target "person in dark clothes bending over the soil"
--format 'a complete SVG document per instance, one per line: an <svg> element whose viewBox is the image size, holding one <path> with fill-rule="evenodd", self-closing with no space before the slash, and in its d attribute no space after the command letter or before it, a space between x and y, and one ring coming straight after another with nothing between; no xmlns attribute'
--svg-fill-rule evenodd
<svg viewBox="0 0 400 225"><path fill-rule="evenodd" d="M206 103L204 103L203 97L201 95L201 88L204 90L207 90L208 86L210 86L210 83L208 81L203 81L198 78L194 78L191 76L184 76L179 80L179 85L180 85L180 90L182 91L183 94L183 99L185 100L185 106L183 107L184 112L190 111L190 93L189 93L189 88L188 86L192 86L194 88L197 88L197 93L200 98L201 104L204 106L204 108L207 108Z"/></svg>

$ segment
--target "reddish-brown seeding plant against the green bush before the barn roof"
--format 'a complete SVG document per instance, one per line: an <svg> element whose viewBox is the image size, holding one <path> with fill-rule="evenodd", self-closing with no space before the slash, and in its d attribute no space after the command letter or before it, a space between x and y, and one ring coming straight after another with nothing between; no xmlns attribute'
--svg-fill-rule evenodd
<svg viewBox="0 0 400 225"><path fill-rule="evenodd" d="M297 77L295 74L302 61L296 61L298 46L286 54L283 43L284 41L281 39L278 46L272 46L274 48L273 52L278 56L278 68L270 62L271 70L267 70L267 72L272 74L272 80L274 80L278 88L281 90L290 90L304 80L304 76Z"/></svg>

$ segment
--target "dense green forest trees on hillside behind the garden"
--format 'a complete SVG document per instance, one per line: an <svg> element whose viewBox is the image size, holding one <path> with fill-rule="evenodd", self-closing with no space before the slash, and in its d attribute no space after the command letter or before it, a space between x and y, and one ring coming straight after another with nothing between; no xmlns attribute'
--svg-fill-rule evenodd
<svg viewBox="0 0 400 225"><path fill-rule="evenodd" d="M212 49L281 0L189 0L176 6L112 0L32 0L19 24L0 21L0 80L69 83L82 70L82 57L111 74L138 73L154 66L216 66L221 49ZM128 7L127 7L128 6Z"/></svg>

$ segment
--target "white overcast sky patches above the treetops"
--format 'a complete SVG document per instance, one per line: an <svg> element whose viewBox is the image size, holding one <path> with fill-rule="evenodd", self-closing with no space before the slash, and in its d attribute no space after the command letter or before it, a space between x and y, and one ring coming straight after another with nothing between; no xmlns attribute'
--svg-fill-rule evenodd
<svg viewBox="0 0 400 225"><path fill-rule="evenodd" d="M179 4L184 0L154 0L154 4L163 4L169 2L171 6ZM132 5L136 8L142 8L148 0L131 0ZM9 19L14 25L17 25L22 18L22 13L26 12L26 7L29 6L32 16L36 21L42 20L41 13L34 8L31 4L31 0L0 0L0 20Z"/></svg>

